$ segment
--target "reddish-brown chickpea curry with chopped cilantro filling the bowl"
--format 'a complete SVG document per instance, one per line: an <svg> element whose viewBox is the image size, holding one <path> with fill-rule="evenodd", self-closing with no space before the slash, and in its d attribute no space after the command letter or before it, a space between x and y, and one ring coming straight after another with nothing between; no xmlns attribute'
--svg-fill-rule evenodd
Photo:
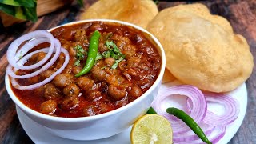
<svg viewBox="0 0 256 144"><path fill-rule="evenodd" d="M98 31L98 50L94 52L92 67L88 65L90 39ZM86 22L61 26L51 31L70 55L61 74L51 82L34 90L18 90L14 94L26 106L43 114L58 117L86 117L103 114L133 102L153 85L161 67L158 50L142 32L130 26L109 22ZM33 50L47 46L43 43ZM46 56L34 54L25 65L32 65ZM53 66L32 78L17 79L29 85L50 77L62 66L65 55L60 54ZM29 74L33 70L18 70Z"/></svg>

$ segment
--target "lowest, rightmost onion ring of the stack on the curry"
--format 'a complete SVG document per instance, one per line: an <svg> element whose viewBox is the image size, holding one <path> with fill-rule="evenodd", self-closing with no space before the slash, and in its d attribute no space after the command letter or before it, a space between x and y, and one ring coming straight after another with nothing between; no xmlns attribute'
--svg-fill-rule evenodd
<svg viewBox="0 0 256 144"><path fill-rule="evenodd" d="M69 52L64 49L64 48L61 48L61 51L62 53L65 54L65 61L62 65L62 67L60 67L56 72L54 72L54 74L50 75L49 78L46 78L45 80L43 80L42 82L38 82L38 83L35 83L33 85L29 85L29 86L20 86L18 84L18 82L15 80L15 78L10 78L10 82L12 83L12 85L16 88L16 89L19 89L19 90L33 90L33 89L36 89L40 86L43 86L45 85L46 83L50 82L52 79L54 79L54 77L60 73L62 73L62 71L65 69L65 67L67 66L67 64L69 63L70 61L70 55L69 55Z"/></svg>

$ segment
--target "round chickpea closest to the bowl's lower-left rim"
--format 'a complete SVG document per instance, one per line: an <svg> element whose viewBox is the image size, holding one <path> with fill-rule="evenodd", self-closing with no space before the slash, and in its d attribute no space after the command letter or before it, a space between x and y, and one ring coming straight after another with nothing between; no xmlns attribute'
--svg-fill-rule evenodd
<svg viewBox="0 0 256 144"><path fill-rule="evenodd" d="M48 100L46 102L42 102L40 106L40 111L43 114L54 114L57 109L57 102L54 100Z"/></svg>

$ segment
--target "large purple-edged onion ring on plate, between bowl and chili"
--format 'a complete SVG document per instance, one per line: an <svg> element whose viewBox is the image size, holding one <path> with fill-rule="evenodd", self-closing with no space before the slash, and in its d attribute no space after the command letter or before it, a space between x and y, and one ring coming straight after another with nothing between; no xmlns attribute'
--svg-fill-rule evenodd
<svg viewBox="0 0 256 144"><path fill-rule="evenodd" d="M161 105L166 100L166 98L170 98L174 94L185 95L191 99L193 102L193 107L191 109L190 117L194 118L195 122L201 122L202 119L206 116L206 98L202 94L201 90L198 90L197 87L189 86L189 85L181 85L181 86L173 86L165 89L161 95L158 95L157 98L154 99L152 106L156 112L164 117L166 117L174 130L174 134L181 134L190 130L188 126L184 124L181 120L174 121L173 118L170 117L170 114L166 113L166 110L161 109Z"/></svg>

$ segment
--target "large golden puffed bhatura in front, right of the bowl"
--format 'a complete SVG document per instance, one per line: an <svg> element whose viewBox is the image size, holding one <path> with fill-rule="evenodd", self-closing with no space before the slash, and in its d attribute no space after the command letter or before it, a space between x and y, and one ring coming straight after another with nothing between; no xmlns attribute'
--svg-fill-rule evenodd
<svg viewBox="0 0 256 144"><path fill-rule="evenodd" d="M230 23L201 4L162 10L147 30L162 43L166 67L179 81L212 92L234 90L250 77L253 56Z"/></svg>

